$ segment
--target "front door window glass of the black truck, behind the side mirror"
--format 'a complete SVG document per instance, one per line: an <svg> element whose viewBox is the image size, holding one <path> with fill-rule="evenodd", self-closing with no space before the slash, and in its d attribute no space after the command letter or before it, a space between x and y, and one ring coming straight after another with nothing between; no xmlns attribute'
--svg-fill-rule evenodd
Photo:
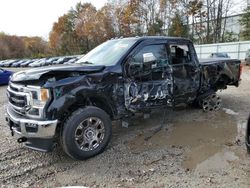
<svg viewBox="0 0 250 188"><path fill-rule="evenodd" d="M148 45L143 47L133 56L131 63L143 63L144 55L148 53L152 53L156 58L156 66L168 64L167 50L164 44Z"/></svg>

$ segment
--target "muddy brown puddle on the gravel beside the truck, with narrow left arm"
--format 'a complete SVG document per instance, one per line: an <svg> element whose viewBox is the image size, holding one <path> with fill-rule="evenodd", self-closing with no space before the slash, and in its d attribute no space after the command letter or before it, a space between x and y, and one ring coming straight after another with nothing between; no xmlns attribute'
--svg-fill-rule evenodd
<svg viewBox="0 0 250 188"><path fill-rule="evenodd" d="M166 125L146 141L147 132L132 139L128 146L134 153L183 146L183 166L193 169L197 164L213 156L225 145L232 145L237 136L237 121L224 111L203 113L200 111L169 114ZM160 116L158 117L160 118ZM157 120L155 120L157 121ZM172 126L169 126L171 125Z"/></svg>

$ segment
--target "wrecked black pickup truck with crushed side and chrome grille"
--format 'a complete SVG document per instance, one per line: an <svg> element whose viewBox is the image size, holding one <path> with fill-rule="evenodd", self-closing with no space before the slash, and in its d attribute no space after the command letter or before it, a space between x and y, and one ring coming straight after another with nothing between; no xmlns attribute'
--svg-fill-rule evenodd
<svg viewBox="0 0 250 188"><path fill-rule="evenodd" d="M15 73L7 88L6 120L19 143L40 151L60 143L82 160L105 149L111 121L194 103L218 110L216 91L238 86L240 74L239 60L199 62L184 38L112 39L75 65Z"/></svg>

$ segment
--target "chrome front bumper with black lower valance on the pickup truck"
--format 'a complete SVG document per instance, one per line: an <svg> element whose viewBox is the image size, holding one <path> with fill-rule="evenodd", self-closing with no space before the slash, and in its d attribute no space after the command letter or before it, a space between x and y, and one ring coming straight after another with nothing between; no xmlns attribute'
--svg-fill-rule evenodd
<svg viewBox="0 0 250 188"><path fill-rule="evenodd" d="M52 150L58 120L25 119L8 105L6 121L13 135L16 134L20 138L25 138L26 147L44 152Z"/></svg>

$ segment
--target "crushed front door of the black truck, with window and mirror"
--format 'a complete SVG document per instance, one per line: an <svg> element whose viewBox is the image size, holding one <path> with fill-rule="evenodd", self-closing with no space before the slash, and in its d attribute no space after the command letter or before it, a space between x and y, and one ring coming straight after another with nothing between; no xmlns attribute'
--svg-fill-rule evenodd
<svg viewBox="0 0 250 188"><path fill-rule="evenodd" d="M132 112L172 106L173 79L166 43L142 42L125 66L125 107Z"/></svg>

